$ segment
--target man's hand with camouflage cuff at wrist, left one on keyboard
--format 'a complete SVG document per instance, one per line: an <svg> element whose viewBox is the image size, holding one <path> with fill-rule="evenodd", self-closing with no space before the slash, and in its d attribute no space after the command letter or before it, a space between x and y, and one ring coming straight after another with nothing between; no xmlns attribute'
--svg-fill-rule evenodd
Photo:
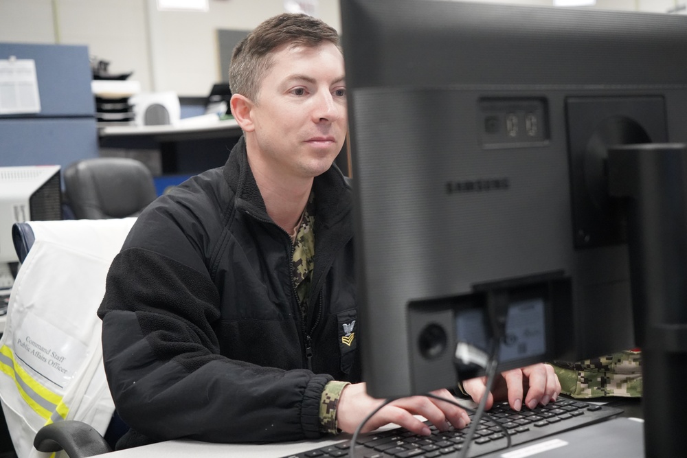
<svg viewBox="0 0 687 458"><path fill-rule="evenodd" d="M432 391L435 396L455 400L451 393L445 389ZM354 433L358 425L374 409L382 404L383 400L371 398L365 391L364 383L348 385L341 391L337 407L337 423L346 433ZM390 402L379 410L365 423L361 430L363 433L374 431L385 424L395 423L409 431L420 435L429 435L426 424L414 417L422 415L427 418L440 431L446 431L449 424L455 428L464 428L470 422L467 413L460 407L450 402L442 402L426 396L411 396Z"/></svg>

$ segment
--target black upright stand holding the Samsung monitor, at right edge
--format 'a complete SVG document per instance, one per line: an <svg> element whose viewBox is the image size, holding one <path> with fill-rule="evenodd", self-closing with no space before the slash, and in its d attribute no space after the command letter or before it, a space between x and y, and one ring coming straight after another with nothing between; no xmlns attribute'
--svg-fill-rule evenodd
<svg viewBox="0 0 687 458"><path fill-rule="evenodd" d="M687 431L687 145L609 148L609 193L627 204L646 457L684 454ZM611 325L611 323L609 323Z"/></svg>

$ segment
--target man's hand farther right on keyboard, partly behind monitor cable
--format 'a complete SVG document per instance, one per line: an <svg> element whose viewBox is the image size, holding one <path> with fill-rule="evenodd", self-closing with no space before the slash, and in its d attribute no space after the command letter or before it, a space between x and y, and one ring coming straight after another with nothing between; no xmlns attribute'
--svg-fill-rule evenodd
<svg viewBox="0 0 687 458"><path fill-rule="evenodd" d="M480 402L486 391L486 378L478 377L463 382L463 389L473 401ZM486 409L491 409L494 400L508 400L515 411L524 404L534 409L537 404L546 405L556 400L561 393L561 382L548 364L535 364L521 369L502 372L494 380L491 393L486 393ZM523 398L523 395L526 395Z"/></svg>

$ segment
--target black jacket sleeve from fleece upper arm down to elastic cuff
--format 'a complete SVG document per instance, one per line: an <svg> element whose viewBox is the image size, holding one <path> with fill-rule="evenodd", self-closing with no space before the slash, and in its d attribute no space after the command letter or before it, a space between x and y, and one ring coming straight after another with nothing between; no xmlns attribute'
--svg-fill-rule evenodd
<svg viewBox="0 0 687 458"><path fill-rule="evenodd" d="M155 441L284 441L319 436L328 375L220 355L210 275L155 251L124 249L98 310L104 366L124 422Z"/></svg>

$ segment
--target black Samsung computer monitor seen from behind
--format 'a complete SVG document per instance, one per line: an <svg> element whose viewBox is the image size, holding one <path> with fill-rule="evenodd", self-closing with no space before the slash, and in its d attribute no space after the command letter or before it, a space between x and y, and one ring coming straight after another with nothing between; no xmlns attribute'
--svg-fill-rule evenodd
<svg viewBox="0 0 687 458"><path fill-rule="evenodd" d="M687 142L687 16L342 0L341 19L368 392L454 386L499 307L501 369L635 347L607 148Z"/></svg>

